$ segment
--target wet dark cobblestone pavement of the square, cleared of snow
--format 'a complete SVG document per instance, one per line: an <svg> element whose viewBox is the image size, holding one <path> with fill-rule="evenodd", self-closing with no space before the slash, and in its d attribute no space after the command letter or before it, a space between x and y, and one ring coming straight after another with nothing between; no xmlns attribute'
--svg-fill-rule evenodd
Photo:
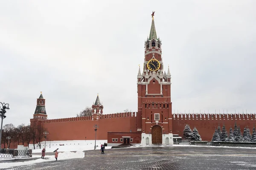
<svg viewBox="0 0 256 170"><path fill-rule="evenodd" d="M87 150L83 159L12 167L9 170L255 170L256 149L221 147L131 147ZM7 170L7 169L6 169Z"/></svg>

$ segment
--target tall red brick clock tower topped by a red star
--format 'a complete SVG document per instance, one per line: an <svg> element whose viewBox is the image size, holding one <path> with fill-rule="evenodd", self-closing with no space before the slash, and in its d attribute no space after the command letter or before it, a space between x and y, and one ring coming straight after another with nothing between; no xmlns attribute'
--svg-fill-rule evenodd
<svg viewBox="0 0 256 170"><path fill-rule="evenodd" d="M141 144L173 144L171 74L163 71L161 40L157 38L154 12L150 34L145 41L143 72L137 76L137 131Z"/></svg>

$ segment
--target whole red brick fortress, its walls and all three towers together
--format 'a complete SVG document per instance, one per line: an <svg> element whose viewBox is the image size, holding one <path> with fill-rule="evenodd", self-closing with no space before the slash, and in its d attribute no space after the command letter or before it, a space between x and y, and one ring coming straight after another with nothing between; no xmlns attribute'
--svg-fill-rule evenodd
<svg viewBox="0 0 256 170"><path fill-rule="evenodd" d="M31 126L38 125L47 130L47 141L65 141L94 140L94 126L97 125L96 139L108 140L109 145L173 144L173 135L183 137L186 124L191 129L196 127L203 141L211 141L218 125L225 125L229 132L236 122L242 133L246 126L252 131L256 114L172 113L170 68L168 66L167 73L163 69L162 43L157 37L154 12L151 18L150 34L144 43L144 63L137 74L137 112L106 114L97 96L92 105L92 116L47 119L45 99L41 94L30 119Z"/></svg>

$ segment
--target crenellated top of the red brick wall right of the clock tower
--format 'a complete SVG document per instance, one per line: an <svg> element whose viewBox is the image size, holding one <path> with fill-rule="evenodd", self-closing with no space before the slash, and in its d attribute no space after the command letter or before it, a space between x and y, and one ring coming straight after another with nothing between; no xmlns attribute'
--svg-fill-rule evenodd
<svg viewBox="0 0 256 170"><path fill-rule="evenodd" d="M255 120L256 114L233 114L233 113L193 113L193 114L183 114L183 113L173 113L172 119L181 120Z"/></svg>

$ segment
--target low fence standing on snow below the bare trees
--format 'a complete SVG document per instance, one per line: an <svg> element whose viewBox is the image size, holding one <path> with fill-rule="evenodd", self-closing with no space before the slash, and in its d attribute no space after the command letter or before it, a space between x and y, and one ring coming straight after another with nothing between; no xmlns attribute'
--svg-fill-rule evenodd
<svg viewBox="0 0 256 170"><path fill-rule="evenodd" d="M32 149L30 150L13 150L2 149L0 150L0 159L17 158L17 157L32 157Z"/></svg>

